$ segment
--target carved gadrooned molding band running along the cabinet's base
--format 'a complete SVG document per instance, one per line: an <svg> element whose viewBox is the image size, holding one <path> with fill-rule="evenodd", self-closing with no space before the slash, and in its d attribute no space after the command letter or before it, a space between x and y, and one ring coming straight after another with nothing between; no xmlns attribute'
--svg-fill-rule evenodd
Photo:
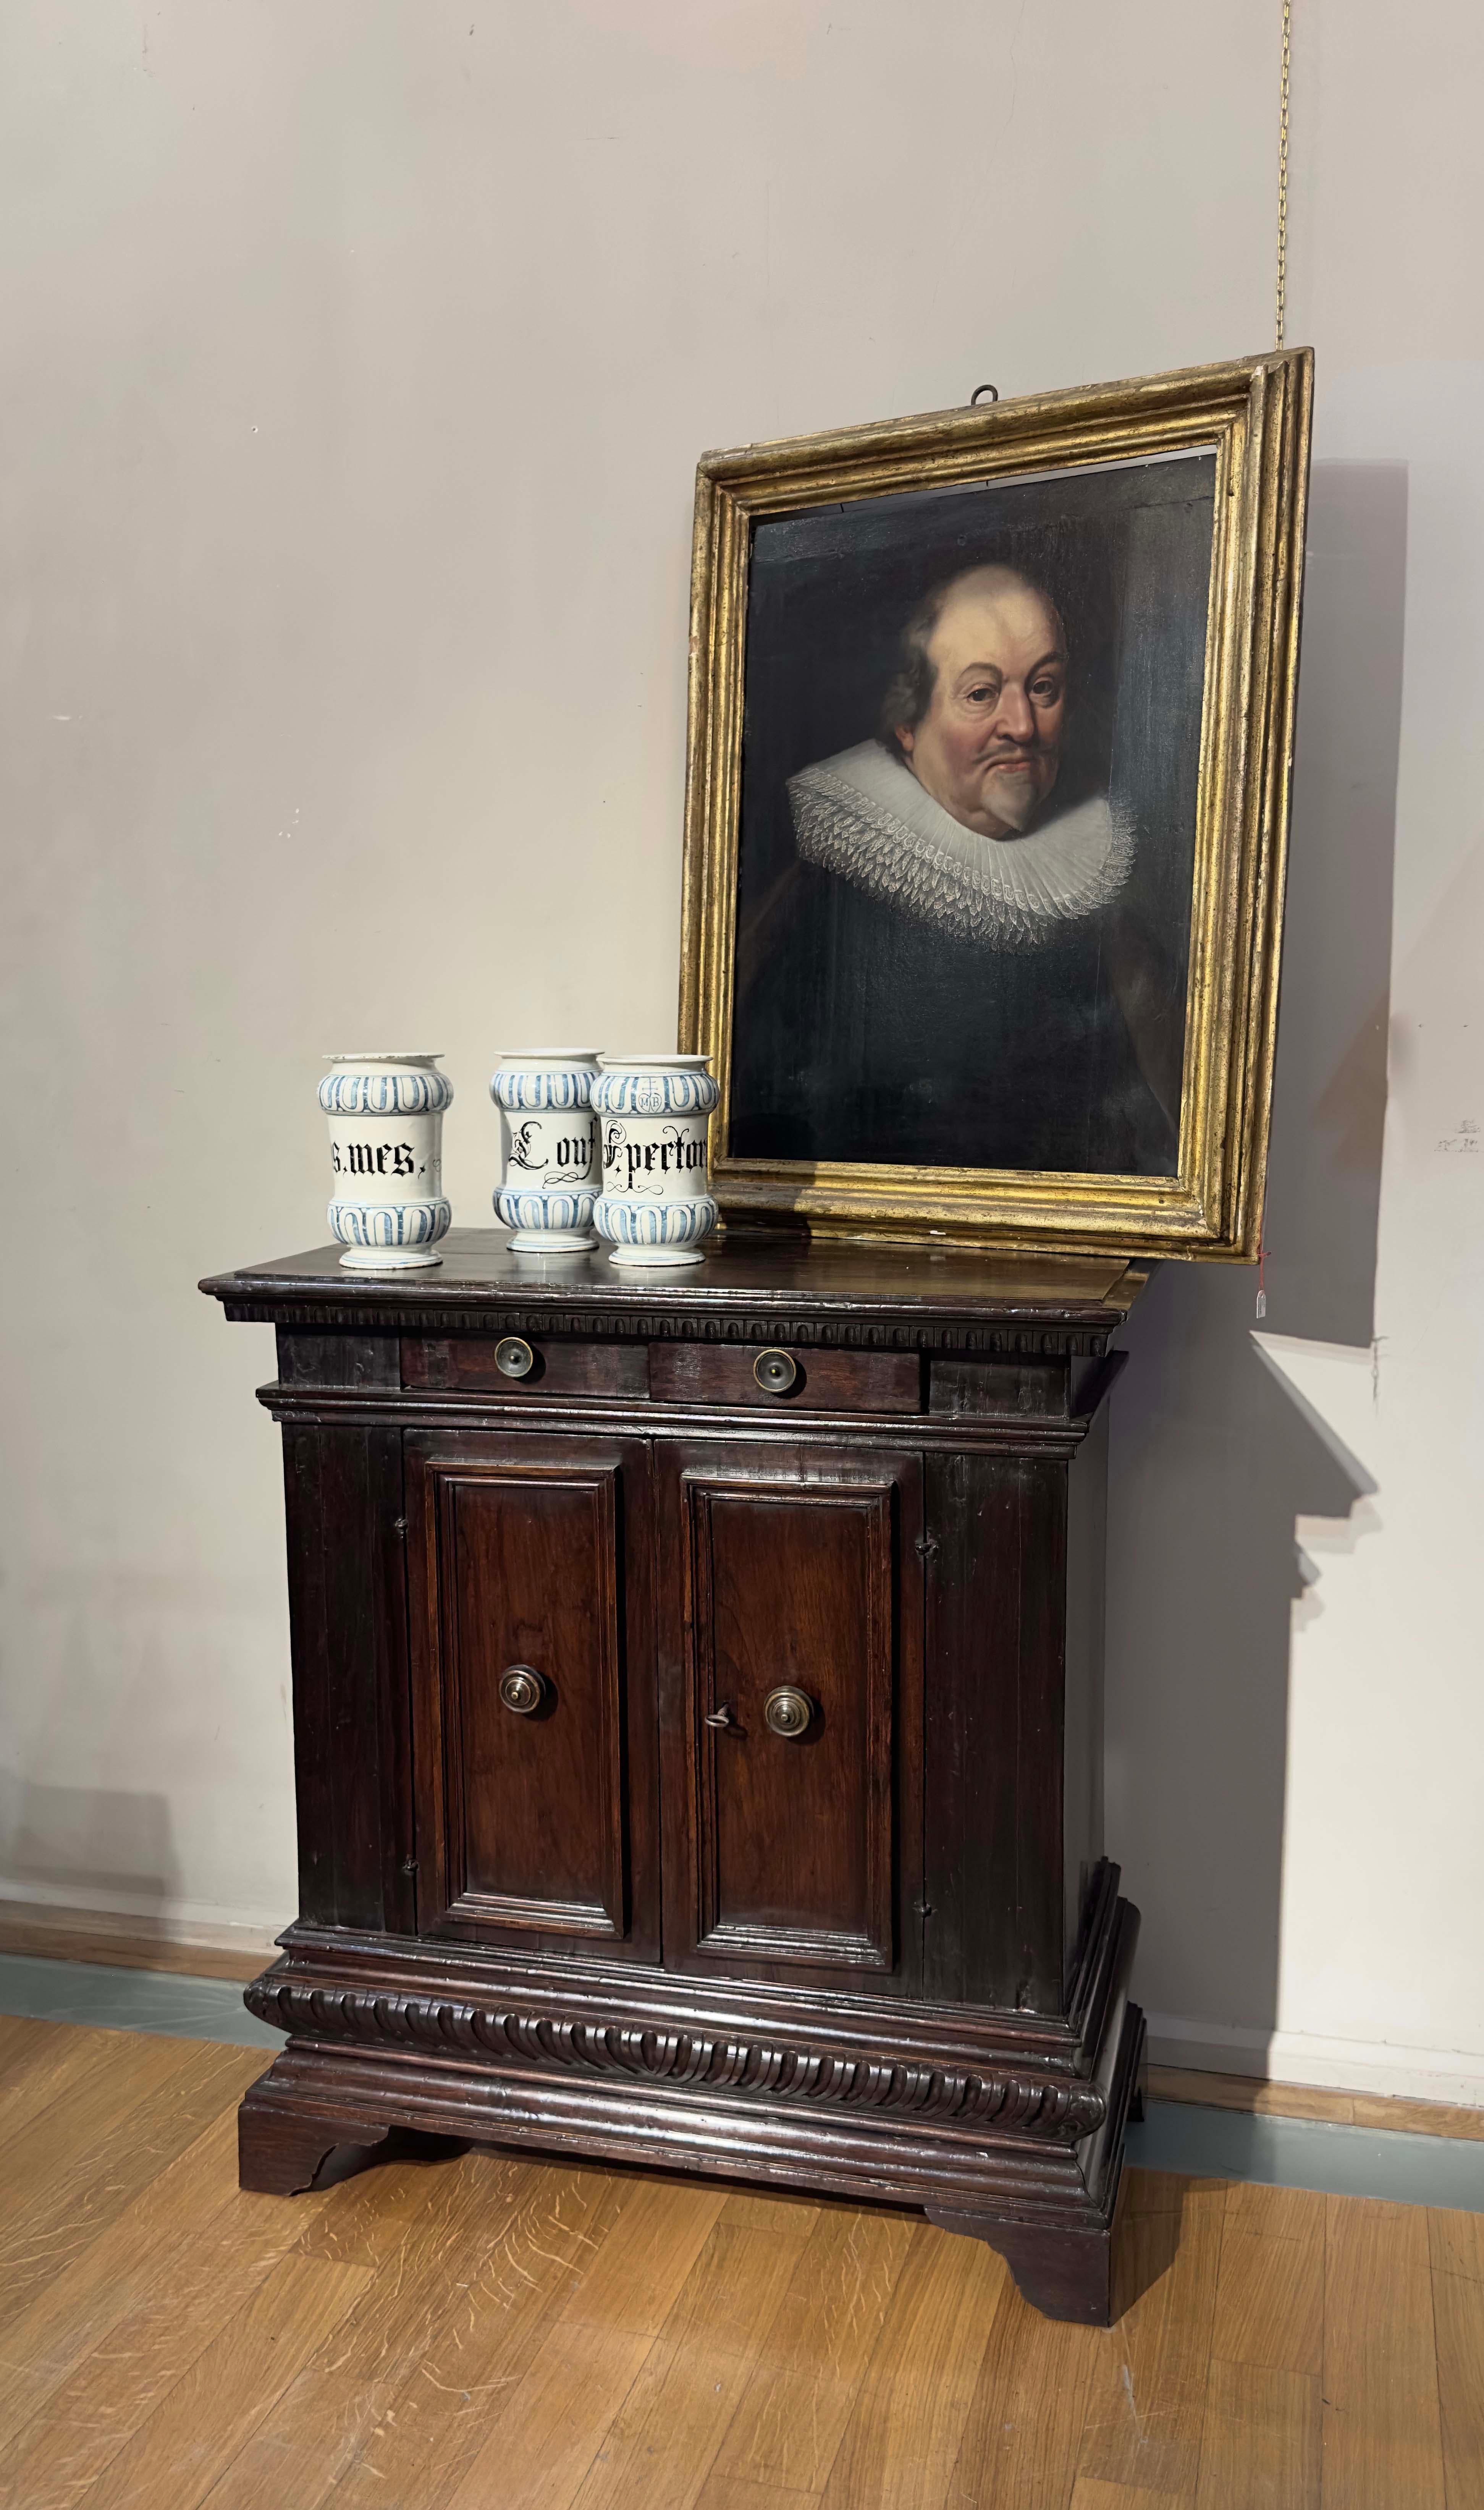
<svg viewBox="0 0 1484 2510"><path fill-rule="evenodd" d="M645 2031L630 2023L575 2023L550 2013L505 2013L447 1998L321 1988L261 1978L249 2008L294 2038L387 2041L427 2056L630 2076L688 2091L723 2091L819 2108L881 2111L934 2123L989 2126L1004 2134L1077 2144L1102 2126L1107 2101L1095 2083L1030 2073L947 2073L937 2066L824 2056L763 2041Z"/></svg>

